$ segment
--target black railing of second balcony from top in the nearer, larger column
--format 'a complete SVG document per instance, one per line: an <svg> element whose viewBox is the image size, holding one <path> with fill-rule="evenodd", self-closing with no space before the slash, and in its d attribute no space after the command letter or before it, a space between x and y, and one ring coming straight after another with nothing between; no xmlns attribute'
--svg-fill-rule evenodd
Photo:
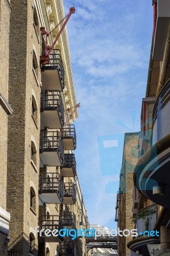
<svg viewBox="0 0 170 256"><path fill-rule="evenodd" d="M58 90L43 90L41 93L41 111L58 110L62 125L65 122L65 111Z"/></svg>

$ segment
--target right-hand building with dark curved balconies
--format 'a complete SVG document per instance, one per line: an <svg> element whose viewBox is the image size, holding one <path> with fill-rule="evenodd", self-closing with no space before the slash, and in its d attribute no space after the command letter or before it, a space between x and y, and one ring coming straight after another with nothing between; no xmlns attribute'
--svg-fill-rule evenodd
<svg viewBox="0 0 170 256"><path fill-rule="evenodd" d="M133 214L139 236L127 244L132 252L144 256L170 252L170 2L153 0L152 4L153 37L134 172ZM140 236L144 230L148 235ZM156 231L158 236L153 236L151 232Z"/></svg>

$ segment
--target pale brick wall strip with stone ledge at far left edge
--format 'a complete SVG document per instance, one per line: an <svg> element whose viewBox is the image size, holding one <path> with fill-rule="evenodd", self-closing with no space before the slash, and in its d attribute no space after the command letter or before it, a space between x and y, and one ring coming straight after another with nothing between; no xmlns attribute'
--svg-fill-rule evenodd
<svg viewBox="0 0 170 256"><path fill-rule="evenodd" d="M12 107L8 101L9 86L9 38L10 38L10 13L12 8L10 2L0 1L0 154L1 154L1 179L0 179L0 254L7 255L7 239L9 232L10 212L7 209L7 141L8 141L8 117L12 114Z"/></svg>

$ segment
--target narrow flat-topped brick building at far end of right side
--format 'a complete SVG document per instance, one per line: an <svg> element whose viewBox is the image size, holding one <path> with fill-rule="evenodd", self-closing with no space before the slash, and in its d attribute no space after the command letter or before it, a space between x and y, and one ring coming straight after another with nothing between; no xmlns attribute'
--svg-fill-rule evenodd
<svg viewBox="0 0 170 256"><path fill-rule="evenodd" d="M138 132L126 133L123 146L123 159L120 173L120 189L117 196L116 221L120 230L131 230L134 228L132 221L133 207L133 175L137 164L138 154ZM131 236L118 236L118 255L130 256L130 250L127 248Z"/></svg>

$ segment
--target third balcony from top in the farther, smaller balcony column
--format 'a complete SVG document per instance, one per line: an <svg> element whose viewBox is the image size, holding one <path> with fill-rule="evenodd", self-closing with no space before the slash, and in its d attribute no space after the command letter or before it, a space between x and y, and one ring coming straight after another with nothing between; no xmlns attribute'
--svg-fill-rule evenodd
<svg viewBox="0 0 170 256"><path fill-rule="evenodd" d="M65 182L63 204L75 204L75 202L76 202L76 185L70 182Z"/></svg>

